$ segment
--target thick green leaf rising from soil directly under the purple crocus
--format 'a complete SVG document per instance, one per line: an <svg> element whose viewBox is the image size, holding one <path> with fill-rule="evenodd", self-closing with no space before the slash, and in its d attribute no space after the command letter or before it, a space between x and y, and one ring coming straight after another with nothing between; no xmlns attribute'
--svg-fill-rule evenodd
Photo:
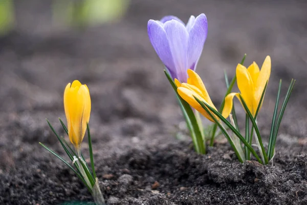
<svg viewBox="0 0 307 205"><path fill-rule="evenodd" d="M172 80L170 75L166 72L166 70L164 70L164 73L165 73L169 83L171 84L172 88L176 92L176 95L178 96L180 103L182 104L184 110L187 113L189 121L191 122L191 128L193 129L193 132L191 132L191 135L192 135L192 137L194 137L194 138L192 138L192 140L193 140L193 144L195 146L196 152L198 151L198 153L205 154L206 153L206 147L205 147L205 143L203 141L203 137L202 137L202 133L201 133L202 131L200 130L200 128L198 126L198 122L195 118L193 110L191 109L190 105L184 99L182 99L182 97L180 97L180 95L177 92L176 84L174 84L174 81ZM194 136L193 136L193 133L194 133Z"/></svg>

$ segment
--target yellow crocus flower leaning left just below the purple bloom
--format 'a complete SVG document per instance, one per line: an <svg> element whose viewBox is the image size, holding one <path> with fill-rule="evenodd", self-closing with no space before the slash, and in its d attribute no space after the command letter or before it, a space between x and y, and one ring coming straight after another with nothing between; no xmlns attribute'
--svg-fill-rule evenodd
<svg viewBox="0 0 307 205"><path fill-rule="evenodd" d="M187 83L180 83L178 79L175 79L175 84L177 85L177 91L178 94L195 110L199 111L202 115L204 115L207 119L210 121L214 120L212 117L206 112L205 109L202 108L202 106L198 103L198 101L195 100L194 96L198 98L201 101L205 101L208 105L210 105L213 109L216 110L215 106L213 105L210 96L206 90L206 87L204 86L204 83L201 79L201 77L195 73L195 71L189 69L188 71L188 79ZM211 114L218 119L216 115L214 115L212 112ZM229 114L228 114L229 115ZM224 117L228 117L224 116Z"/></svg>

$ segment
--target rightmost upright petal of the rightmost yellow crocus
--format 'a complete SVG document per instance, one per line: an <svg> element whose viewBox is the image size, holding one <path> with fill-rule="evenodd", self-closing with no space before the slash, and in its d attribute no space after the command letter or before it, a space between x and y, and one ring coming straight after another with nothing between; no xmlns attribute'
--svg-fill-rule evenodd
<svg viewBox="0 0 307 205"><path fill-rule="evenodd" d="M266 83L270 78L271 74L271 57L267 56L264 64L262 64L258 79L255 83L255 100L257 105L259 104L261 94L265 89Z"/></svg>

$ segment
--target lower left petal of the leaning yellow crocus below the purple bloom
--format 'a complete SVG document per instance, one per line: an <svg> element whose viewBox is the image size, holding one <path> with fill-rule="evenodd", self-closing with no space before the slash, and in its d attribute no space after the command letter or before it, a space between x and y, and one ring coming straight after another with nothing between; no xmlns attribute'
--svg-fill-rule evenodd
<svg viewBox="0 0 307 205"><path fill-rule="evenodd" d="M210 117L210 115L203 109L203 107L196 101L194 96L199 100L205 101L200 95L198 95L195 91L192 91L185 87L179 87L177 89L178 94L195 110L199 111L202 115L204 115L210 121L214 120ZM214 115L213 115L214 116ZM215 116L216 117L216 116Z"/></svg>

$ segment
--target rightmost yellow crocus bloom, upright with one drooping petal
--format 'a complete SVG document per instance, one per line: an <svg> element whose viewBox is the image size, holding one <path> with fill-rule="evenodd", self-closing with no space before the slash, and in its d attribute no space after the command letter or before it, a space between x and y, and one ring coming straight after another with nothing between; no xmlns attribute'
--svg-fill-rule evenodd
<svg viewBox="0 0 307 205"><path fill-rule="evenodd" d="M253 62L247 69L243 65L238 64L236 68L236 77L240 93L230 93L226 96L223 114L230 114L233 105L233 97L236 96L240 100L239 95L241 95L249 111L253 116L255 116L262 92L264 91L267 81L269 81L270 74L270 56L266 57L261 70L259 70L259 67L255 62Z"/></svg>

